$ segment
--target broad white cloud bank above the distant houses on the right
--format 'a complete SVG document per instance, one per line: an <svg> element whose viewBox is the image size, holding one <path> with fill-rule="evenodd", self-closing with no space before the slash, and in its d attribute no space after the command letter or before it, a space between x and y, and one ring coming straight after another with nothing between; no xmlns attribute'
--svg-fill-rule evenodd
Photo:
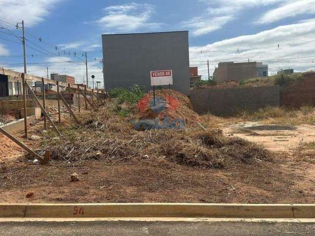
<svg viewBox="0 0 315 236"><path fill-rule="evenodd" d="M285 46L287 44L293 45ZM279 44L279 48L278 48ZM244 51L243 49L262 48ZM239 52L237 52L239 49ZM210 75L221 61L263 61L269 65L270 73L280 68L296 71L315 67L315 18L297 24L284 25L256 34L225 39L202 47L190 47L191 66L198 66L203 78L207 78L207 60L210 61ZM203 51L204 53L198 53ZM231 51L231 52L217 52ZM195 52L195 53L192 53ZM310 57L304 59L290 59ZM276 60L275 59L285 59Z"/></svg>

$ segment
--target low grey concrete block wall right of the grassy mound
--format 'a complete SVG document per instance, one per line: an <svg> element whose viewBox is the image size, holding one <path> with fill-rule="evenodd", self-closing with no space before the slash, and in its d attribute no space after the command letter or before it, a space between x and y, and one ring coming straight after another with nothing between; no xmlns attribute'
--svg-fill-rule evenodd
<svg viewBox="0 0 315 236"><path fill-rule="evenodd" d="M279 94L279 86L193 89L190 100L198 114L226 116L240 110L280 106Z"/></svg>

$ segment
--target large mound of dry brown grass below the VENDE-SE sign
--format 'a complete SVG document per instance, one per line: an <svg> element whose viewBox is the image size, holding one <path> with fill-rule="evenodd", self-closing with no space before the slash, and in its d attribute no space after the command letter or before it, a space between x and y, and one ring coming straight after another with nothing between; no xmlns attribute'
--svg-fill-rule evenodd
<svg viewBox="0 0 315 236"><path fill-rule="evenodd" d="M185 129L136 131L130 118L117 115L115 100L107 99L97 112L80 118L84 125L63 128L63 140L52 138L51 133L46 134L42 151L49 149L53 159L70 162L87 159L117 162L149 156L155 160L165 158L207 168L272 161L273 153L266 148L240 138L225 137L220 129L212 126L211 121L200 120L189 108L189 99L185 95L175 93L175 96L179 101L179 111L166 109L163 115L185 118ZM128 109L133 110L131 116L141 115L132 105ZM145 116L148 114L151 113L143 113ZM199 120L204 128L198 125Z"/></svg>

